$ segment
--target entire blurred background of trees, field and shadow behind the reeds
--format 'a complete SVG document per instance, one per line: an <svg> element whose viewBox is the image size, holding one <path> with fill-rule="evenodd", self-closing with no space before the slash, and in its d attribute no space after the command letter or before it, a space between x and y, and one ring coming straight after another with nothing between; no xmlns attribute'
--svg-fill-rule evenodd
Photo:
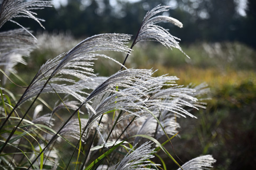
<svg viewBox="0 0 256 170"><path fill-rule="evenodd" d="M191 59L158 43L142 43L134 47L127 67L159 69L159 75L178 76L180 85L209 85L212 99L207 101L207 109L192 111L198 119L179 120L180 138L172 144L181 161L212 154L216 170L256 169L256 0L53 1L53 8L37 10L38 17L46 20L46 30L31 19L15 20L33 30L39 42L26 59L28 65L17 65L25 82L31 81L47 59L86 37L135 35L148 10L158 4L170 5L164 15L180 20L183 28L163 27L181 39L181 47ZM6 23L0 31L15 27ZM123 62L119 53L108 55ZM104 59L95 63L95 72L101 76L119 68ZM169 151L174 155L171 147Z"/></svg>

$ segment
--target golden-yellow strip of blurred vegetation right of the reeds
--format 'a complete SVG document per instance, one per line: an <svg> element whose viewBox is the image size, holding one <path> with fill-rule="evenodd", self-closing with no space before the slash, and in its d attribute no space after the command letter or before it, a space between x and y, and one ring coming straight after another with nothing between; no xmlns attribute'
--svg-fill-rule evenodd
<svg viewBox="0 0 256 170"><path fill-rule="evenodd" d="M167 68L158 66L158 74L170 74L181 77L178 81L181 85L188 85L191 82L200 84L206 82L209 87L221 88L225 85L240 85L245 81L256 82L256 74L253 70L220 70L218 68L197 68L184 66L181 68Z"/></svg>

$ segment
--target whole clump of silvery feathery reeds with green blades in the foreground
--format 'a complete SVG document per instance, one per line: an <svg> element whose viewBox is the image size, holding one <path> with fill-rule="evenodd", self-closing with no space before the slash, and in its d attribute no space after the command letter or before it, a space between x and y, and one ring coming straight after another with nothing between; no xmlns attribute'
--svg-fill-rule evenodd
<svg viewBox="0 0 256 170"><path fill-rule="evenodd" d="M51 3L43 0L2 0L0 27L7 21L21 26L15 17L29 17L41 25L31 10L48 6ZM200 97L208 88L177 85L176 76L154 76L152 69L125 67L139 42L157 41L183 52L179 39L157 25L169 22L182 27L177 19L159 15L168 8L157 6L146 14L130 48L126 44L131 35L99 34L48 59L30 83L19 85L24 89L21 95L8 90L7 84L14 84L9 74L19 77L13 67L17 62L25 63L21 56L28 56L35 48L36 38L23 26L0 34L4 79L0 87L1 169L170 169L158 156L160 150L176 164L174 168L212 167L216 160L211 155L181 166L178 157L165 148L182 126L177 118L196 118L190 109L205 107ZM124 53L123 64L103 51ZM94 61L98 58L121 69L109 77L97 76ZM162 137L163 144L159 142ZM155 155L162 165L152 161Z"/></svg>

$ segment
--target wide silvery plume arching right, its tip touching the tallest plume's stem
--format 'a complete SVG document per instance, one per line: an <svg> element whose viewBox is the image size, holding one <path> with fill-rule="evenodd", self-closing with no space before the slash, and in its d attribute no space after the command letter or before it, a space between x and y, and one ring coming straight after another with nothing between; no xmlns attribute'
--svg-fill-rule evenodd
<svg viewBox="0 0 256 170"><path fill-rule="evenodd" d="M48 60L38 71L32 84L24 93L20 103L25 102L38 95L38 93L66 93L74 96L78 101L84 102L86 93L81 88L90 88L80 83L76 83L73 79L61 78L60 76L75 76L85 82L93 82L92 76L93 60L96 57L108 56L95 53L99 51L119 51L128 52L129 48L125 45L130 39L127 34L99 34L85 39L76 45L72 50L57 56L55 59ZM113 59L112 59L113 60ZM117 62L117 61L116 61ZM119 63L120 64L120 63ZM46 84L46 82L50 84ZM60 85L57 82L61 82ZM73 84L73 85L66 85ZM42 91L41 91L42 90ZM41 91L41 92L40 92Z"/></svg>

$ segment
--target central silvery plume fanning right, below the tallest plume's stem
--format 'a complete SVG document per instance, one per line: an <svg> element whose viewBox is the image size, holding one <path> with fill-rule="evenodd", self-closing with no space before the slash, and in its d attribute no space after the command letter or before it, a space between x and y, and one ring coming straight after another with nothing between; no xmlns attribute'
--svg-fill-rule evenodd
<svg viewBox="0 0 256 170"><path fill-rule="evenodd" d="M108 95L102 98L102 100L93 100L96 106L95 109L90 106L89 102L86 102L88 110L91 111L89 113L89 122L92 123L99 116L114 108L114 110L123 110L130 114L134 113L130 110L142 110L142 100L145 96L143 91L147 90L147 86L142 85L144 83L143 79L150 79L152 78L151 75L152 70L127 69L115 73L98 85L86 98L86 101L90 101L101 93L108 93ZM116 90L117 86L118 91Z"/></svg>

